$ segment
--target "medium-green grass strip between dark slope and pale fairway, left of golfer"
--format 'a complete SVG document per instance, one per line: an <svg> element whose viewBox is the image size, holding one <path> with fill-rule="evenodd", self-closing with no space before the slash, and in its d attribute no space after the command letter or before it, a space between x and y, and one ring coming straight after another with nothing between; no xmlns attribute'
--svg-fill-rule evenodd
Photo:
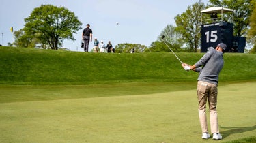
<svg viewBox="0 0 256 143"><path fill-rule="evenodd" d="M89 85L0 85L0 103L124 95L195 89L196 82L128 82Z"/></svg>

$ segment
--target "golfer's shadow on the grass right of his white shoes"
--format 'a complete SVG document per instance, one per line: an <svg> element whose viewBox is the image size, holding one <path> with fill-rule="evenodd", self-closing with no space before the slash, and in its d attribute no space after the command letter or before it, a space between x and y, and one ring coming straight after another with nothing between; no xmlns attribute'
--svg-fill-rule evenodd
<svg viewBox="0 0 256 143"><path fill-rule="evenodd" d="M251 127L221 127L221 128L228 129L227 131L221 132L221 135L223 136L223 138L225 138L231 134L244 133L246 131L253 131L256 129L256 125L253 125Z"/></svg>

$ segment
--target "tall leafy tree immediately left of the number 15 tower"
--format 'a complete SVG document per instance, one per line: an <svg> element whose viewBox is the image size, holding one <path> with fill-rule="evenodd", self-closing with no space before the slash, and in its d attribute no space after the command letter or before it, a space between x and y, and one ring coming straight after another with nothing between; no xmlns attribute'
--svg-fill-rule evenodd
<svg viewBox="0 0 256 143"><path fill-rule="evenodd" d="M197 52L201 39L201 13L204 4L195 3L188 6L186 12L175 16L177 25L176 31L182 34L182 41L186 44L191 52Z"/></svg>

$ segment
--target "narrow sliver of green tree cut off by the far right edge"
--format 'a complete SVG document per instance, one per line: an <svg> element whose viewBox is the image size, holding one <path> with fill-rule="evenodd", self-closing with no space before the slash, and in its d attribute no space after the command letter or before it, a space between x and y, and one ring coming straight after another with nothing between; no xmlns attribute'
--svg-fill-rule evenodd
<svg viewBox="0 0 256 143"><path fill-rule="evenodd" d="M256 5L256 2L253 3ZM248 39L254 44L253 48L250 50L250 53L256 53L256 6L253 9L253 12L250 17L250 29L248 31Z"/></svg>

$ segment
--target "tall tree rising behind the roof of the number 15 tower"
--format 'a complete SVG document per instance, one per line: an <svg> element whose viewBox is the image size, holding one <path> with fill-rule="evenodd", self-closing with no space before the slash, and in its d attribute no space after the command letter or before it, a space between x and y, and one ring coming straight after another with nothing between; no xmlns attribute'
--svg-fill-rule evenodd
<svg viewBox="0 0 256 143"><path fill-rule="evenodd" d="M253 11L253 1L255 0L209 0L211 6L227 7L235 10L233 14L234 35L242 36L246 34L250 23L250 16ZM232 14L228 13L227 18L231 18Z"/></svg>

